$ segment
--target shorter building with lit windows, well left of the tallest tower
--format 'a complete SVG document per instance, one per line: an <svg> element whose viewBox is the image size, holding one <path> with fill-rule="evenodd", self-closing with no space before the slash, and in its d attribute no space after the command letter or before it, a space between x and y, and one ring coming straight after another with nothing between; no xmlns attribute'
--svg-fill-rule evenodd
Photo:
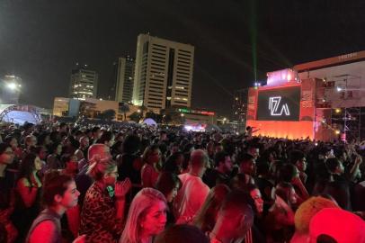
<svg viewBox="0 0 365 243"><path fill-rule="evenodd" d="M69 88L70 98L96 98L98 87L98 73L85 68L72 70Z"/></svg>

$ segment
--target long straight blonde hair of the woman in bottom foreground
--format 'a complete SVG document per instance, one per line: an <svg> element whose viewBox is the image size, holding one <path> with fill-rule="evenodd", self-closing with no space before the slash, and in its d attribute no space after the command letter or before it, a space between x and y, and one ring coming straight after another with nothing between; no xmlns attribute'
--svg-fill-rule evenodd
<svg viewBox="0 0 365 243"><path fill-rule="evenodd" d="M137 193L130 204L126 226L121 234L120 243L139 243L140 220L146 215L148 209L158 201L167 204L164 194L154 188L143 188Z"/></svg>

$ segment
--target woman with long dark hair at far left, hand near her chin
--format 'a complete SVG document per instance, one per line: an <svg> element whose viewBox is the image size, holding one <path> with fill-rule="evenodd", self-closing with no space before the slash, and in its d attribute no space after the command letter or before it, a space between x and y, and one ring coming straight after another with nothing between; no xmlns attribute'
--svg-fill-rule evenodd
<svg viewBox="0 0 365 243"><path fill-rule="evenodd" d="M36 154L27 154L22 159L16 182L16 200L13 223L19 231L19 239L24 240L31 222L40 212L41 178L38 176L42 162Z"/></svg>

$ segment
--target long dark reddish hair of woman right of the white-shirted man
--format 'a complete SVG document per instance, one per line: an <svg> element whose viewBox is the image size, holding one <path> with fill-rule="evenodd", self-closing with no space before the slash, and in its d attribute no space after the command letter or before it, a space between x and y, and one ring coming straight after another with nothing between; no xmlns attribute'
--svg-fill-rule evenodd
<svg viewBox="0 0 365 243"><path fill-rule="evenodd" d="M194 220L194 225L203 232L211 231L216 223L220 205L230 191L226 184L218 184L211 188L207 199Z"/></svg>

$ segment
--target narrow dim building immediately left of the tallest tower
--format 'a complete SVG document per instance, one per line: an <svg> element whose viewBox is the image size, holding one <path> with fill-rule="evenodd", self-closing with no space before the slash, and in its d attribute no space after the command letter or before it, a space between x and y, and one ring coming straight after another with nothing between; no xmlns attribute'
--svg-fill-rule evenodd
<svg viewBox="0 0 365 243"><path fill-rule="evenodd" d="M119 58L117 82L115 87L115 101L131 102L133 98L133 78L134 78L133 58Z"/></svg>

